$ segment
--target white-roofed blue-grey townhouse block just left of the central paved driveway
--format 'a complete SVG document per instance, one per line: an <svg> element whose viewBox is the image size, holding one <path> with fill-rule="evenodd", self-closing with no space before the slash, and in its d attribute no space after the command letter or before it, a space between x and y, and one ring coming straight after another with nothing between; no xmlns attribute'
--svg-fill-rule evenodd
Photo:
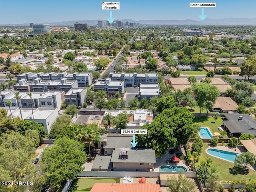
<svg viewBox="0 0 256 192"><path fill-rule="evenodd" d="M113 97L116 93L119 93L121 96L124 94L124 82L111 80L107 78L106 80L98 80L94 84L94 92L99 90L104 90L108 96Z"/></svg>

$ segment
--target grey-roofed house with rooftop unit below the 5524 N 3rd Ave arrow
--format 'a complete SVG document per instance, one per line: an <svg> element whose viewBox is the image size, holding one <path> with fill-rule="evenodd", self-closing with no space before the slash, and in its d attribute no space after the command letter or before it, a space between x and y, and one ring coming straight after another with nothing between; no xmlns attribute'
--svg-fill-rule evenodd
<svg viewBox="0 0 256 192"><path fill-rule="evenodd" d="M111 163L114 171L150 171L156 163L156 153L152 149L115 149Z"/></svg>

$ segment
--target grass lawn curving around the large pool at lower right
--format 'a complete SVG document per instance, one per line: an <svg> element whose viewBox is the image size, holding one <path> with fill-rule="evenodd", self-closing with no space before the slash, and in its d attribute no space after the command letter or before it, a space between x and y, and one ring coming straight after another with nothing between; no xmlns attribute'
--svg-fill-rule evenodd
<svg viewBox="0 0 256 192"><path fill-rule="evenodd" d="M206 160L207 157L210 157L212 159L212 165L214 166L214 169L216 169L216 173L219 175L219 181L233 181L233 180L255 180L256 178L256 172L250 170L250 172L246 175L244 174L237 174L233 175L230 174L230 169L234 167L234 163L228 162L213 156L210 156L206 154L205 150L208 148L208 144L204 144L202 148L202 153L199 156L199 161L196 163L196 166L200 165L201 161Z"/></svg>

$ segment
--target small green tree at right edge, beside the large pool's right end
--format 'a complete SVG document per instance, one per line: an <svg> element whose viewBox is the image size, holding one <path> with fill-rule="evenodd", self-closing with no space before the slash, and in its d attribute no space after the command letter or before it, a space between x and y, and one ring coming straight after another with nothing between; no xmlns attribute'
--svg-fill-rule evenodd
<svg viewBox="0 0 256 192"><path fill-rule="evenodd" d="M236 156L236 159L234 160L235 166L244 166L244 168L247 168L247 166L250 164L251 166L254 166L255 164L255 158L256 155L253 153L247 151L242 152L241 155Z"/></svg>

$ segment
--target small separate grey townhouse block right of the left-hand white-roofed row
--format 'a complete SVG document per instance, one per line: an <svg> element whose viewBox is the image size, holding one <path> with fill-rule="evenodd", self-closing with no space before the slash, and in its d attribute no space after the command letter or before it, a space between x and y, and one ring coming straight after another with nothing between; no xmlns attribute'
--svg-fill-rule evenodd
<svg viewBox="0 0 256 192"><path fill-rule="evenodd" d="M76 105L83 107L84 102L86 101L86 89L70 89L65 95L66 105Z"/></svg>

